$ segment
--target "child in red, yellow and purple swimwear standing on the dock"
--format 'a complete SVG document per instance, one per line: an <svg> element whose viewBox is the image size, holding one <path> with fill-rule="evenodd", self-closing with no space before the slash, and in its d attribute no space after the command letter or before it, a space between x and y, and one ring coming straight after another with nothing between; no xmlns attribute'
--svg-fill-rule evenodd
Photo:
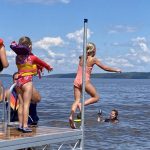
<svg viewBox="0 0 150 150"><path fill-rule="evenodd" d="M18 68L18 97L19 97L19 110L22 115L19 115L19 127L18 130L24 133L32 132L28 128L28 115L29 115L29 105L31 101L33 83L33 75L36 75L38 69L42 70L46 68L51 71L53 68L40 60L38 57L31 53L32 42L29 37L22 37L19 39L19 44L12 42L10 48L17 54L16 65ZM19 92L19 90L21 90Z"/></svg>

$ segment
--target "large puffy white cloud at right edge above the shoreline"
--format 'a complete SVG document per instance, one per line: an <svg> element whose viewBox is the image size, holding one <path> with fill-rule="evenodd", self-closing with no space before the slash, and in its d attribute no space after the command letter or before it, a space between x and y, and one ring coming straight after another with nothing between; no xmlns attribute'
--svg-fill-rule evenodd
<svg viewBox="0 0 150 150"><path fill-rule="evenodd" d="M117 43L117 42L116 42ZM150 48L145 37L136 37L131 39L128 46L128 52L121 56L114 58L104 58L104 62L113 67L123 68L123 70L130 71L144 71L150 63ZM119 44L113 44L118 46Z"/></svg>

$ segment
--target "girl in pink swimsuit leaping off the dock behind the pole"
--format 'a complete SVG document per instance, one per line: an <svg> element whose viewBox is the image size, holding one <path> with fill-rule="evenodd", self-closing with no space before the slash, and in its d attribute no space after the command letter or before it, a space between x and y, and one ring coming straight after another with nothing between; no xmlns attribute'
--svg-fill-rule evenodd
<svg viewBox="0 0 150 150"><path fill-rule="evenodd" d="M85 82L85 91L91 96L91 98L87 99L84 103L84 105L89 105L96 103L99 100L99 95L95 89L95 87L91 84L90 76L92 72L92 68L94 65L97 65L101 69L109 72L121 72L120 69L113 69L106 65L103 65L95 56L96 54L96 46L94 43L88 43L86 47L87 56L86 56L86 82ZM79 108L81 112L81 94L82 94L82 65L83 65L83 57L79 57L79 65L78 65L78 71L76 78L74 80L74 103L71 107L71 114L69 117L69 123L71 128L75 128L74 124L74 113L76 112L76 109Z"/></svg>

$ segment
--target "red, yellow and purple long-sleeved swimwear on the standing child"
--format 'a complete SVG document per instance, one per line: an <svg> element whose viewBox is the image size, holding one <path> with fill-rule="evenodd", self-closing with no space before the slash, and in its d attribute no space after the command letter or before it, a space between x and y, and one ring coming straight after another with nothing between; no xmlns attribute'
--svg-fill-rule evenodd
<svg viewBox="0 0 150 150"><path fill-rule="evenodd" d="M17 54L16 65L18 68L17 87L21 88L25 83L31 82L33 75L37 75L43 68L50 70L52 67L36 57L30 49L24 45L12 42L10 48Z"/></svg>

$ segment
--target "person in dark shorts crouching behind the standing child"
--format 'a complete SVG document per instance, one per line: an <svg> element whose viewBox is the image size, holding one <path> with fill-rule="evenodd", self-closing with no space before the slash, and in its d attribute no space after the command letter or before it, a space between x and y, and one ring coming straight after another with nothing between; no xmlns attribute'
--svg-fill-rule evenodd
<svg viewBox="0 0 150 150"><path fill-rule="evenodd" d="M18 80L18 72L13 74L13 84ZM13 88L10 93L10 89L5 90L5 101L10 100L10 121L18 121L18 116L22 115L22 110L20 112L19 108L19 98L17 93L17 88ZM37 115L37 103L41 101L40 93L33 86L32 98L29 107L28 125L37 125L39 117ZM8 106L8 103L6 103ZM19 116L20 117L20 116ZM22 117L22 116L21 116Z"/></svg>

